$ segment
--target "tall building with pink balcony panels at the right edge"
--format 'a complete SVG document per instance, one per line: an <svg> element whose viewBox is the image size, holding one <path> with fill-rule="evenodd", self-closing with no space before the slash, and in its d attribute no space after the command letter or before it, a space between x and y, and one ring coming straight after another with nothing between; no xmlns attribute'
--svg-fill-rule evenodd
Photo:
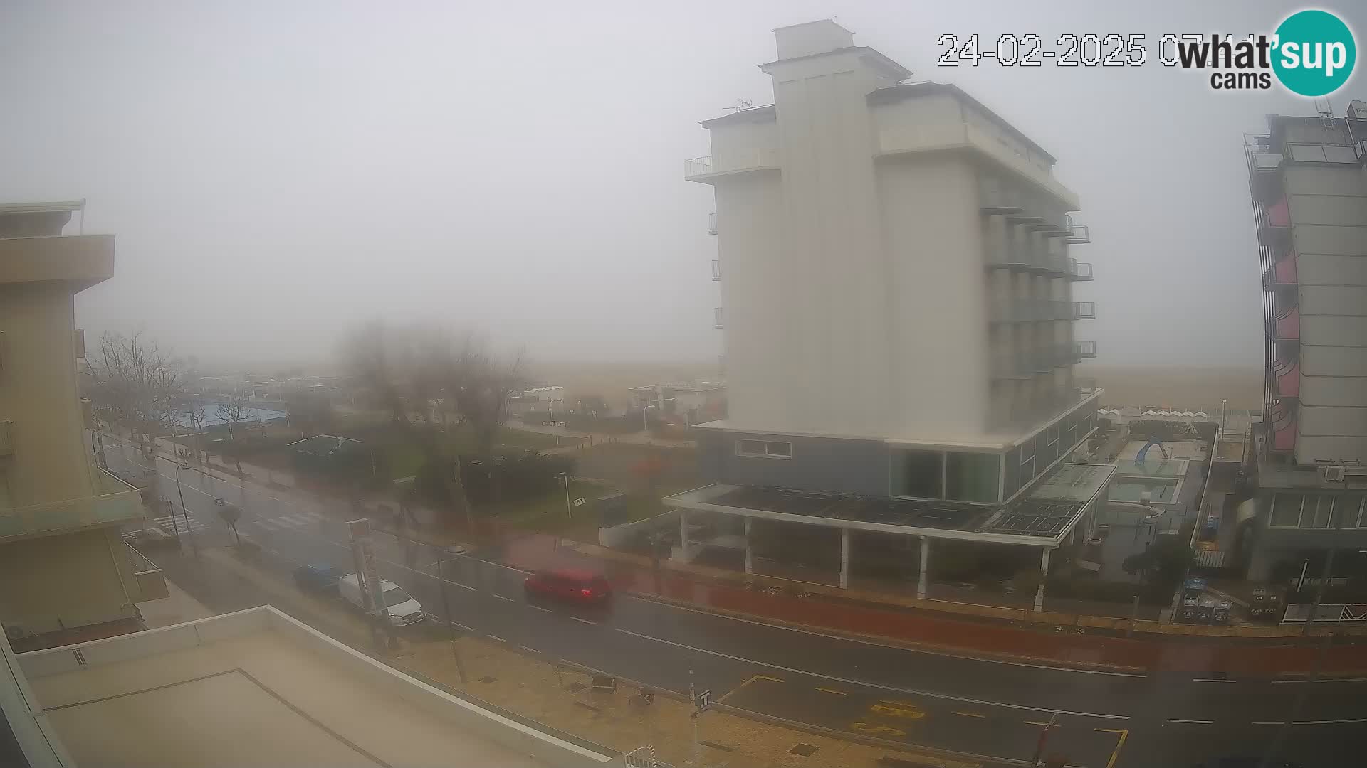
<svg viewBox="0 0 1367 768"><path fill-rule="evenodd" d="M1269 115L1245 153L1266 336L1248 577L1299 582L1330 549L1367 574L1367 102Z"/></svg>

